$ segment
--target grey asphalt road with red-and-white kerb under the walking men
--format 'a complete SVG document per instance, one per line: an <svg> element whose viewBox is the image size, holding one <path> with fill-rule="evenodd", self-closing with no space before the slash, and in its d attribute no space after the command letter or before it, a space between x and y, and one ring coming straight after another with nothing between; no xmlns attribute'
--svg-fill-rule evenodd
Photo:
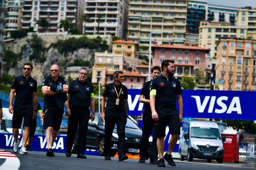
<svg viewBox="0 0 256 170"><path fill-rule="evenodd" d="M139 163L137 159L128 159L118 161L118 158L112 157L112 160L104 160L102 156L87 155L87 159L76 158L76 155L66 157L64 153L55 153L54 157L46 156L46 152L29 151L28 155L20 155L19 152L13 153L13 150L6 150L6 153L0 155L0 170L163 170L174 168L176 170L251 170L256 169L254 164L245 163L226 163L217 162L207 163L206 160L187 160L180 161L174 159L176 166L172 167L165 162L165 168L157 165ZM10 153L8 153L10 152ZM14 155L16 156L14 156ZM16 158L17 157L17 158Z"/></svg>

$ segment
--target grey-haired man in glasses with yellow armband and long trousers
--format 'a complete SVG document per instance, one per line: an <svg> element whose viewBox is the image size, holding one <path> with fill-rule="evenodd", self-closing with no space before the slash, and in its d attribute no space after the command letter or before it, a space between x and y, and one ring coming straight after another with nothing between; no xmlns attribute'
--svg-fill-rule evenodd
<svg viewBox="0 0 256 170"><path fill-rule="evenodd" d="M75 139L75 132L79 125L77 158L86 159L85 146L88 130L88 121L91 113L91 120L95 119L95 99L93 85L86 81L90 70L82 67L79 70L79 78L69 83L68 99L65 103L66 115L69 117L68 134L66 139L66 156L71 156L71 148ZM90 107L91 105L91 112Z"/></svg>

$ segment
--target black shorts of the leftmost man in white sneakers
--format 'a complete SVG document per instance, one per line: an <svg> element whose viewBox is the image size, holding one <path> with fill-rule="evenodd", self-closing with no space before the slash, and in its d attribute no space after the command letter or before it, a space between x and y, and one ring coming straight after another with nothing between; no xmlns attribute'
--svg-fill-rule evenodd
<svg viewBox="0 0 256 170"><path fill-rule="evenodd" d="M32 117L33 117L33 108L27 108L27 109L17 109L15 108L13 110L13 116L12 116L12 128L19 129L21 128L22 124L22 118L24 117L24 123L23 126L30 127L32 125Z"/></svg>

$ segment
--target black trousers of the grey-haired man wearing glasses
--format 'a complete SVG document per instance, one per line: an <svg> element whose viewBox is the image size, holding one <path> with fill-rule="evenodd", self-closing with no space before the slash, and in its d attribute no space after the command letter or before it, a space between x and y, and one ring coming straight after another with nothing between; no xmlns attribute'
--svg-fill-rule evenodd
<svg viewBox="0 0 256 170"><path fill-rule="evenodd" d="M77 153L84 154L86 146L86 135L88 130L88 121L90 118L90 110L73 110L70 108L71 115L69 116L68 121L68 133L66 139L66 148L68 151L71 150L72 145L75 140L75 132L79 124L79 137L77 145Z"/></svg>

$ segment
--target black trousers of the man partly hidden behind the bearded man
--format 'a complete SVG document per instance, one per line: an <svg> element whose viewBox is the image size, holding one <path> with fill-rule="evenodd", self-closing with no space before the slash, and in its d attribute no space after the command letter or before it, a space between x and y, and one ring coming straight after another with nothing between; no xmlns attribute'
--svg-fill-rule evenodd
<svg viewBox="0 0 256 170"><path fill-rule="evenodd" d="M152 119L151 110L144 110L142 121L143 121L142 139L140 142L139 157L141 159L144 159L146 157L147 150L149 147L149 136L152 134L152 131L155 125L155 120ZM150 153L149 153L150 160L157 159L157 156L158 156L156 141L157 141L157 135L154 128L153 141L150 146Z"/></svg>

